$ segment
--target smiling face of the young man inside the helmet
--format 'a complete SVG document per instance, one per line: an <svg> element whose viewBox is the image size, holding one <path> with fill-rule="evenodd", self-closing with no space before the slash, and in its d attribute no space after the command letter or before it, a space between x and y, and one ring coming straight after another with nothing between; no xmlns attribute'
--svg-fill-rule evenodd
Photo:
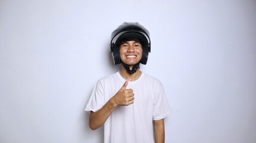
<svg viewBox="0 0 256 143"><path fill-rule="evenodd" d="M126 41L120 45L120 58L123 63L133 66L139 61L142 57L142 45L139 42L135 41Z"/></svg>

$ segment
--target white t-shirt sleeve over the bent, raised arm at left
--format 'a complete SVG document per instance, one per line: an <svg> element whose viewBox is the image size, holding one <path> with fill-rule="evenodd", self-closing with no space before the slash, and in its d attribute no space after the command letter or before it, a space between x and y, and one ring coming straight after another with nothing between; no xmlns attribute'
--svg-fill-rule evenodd
<svg viewBox="0 0 256 143"><path fill-rule="evenodd" d="M85 111L96 112L97 110L100 110L103 105L105 105L104 89L102 83L99 80L97 81L89 101L87 102Z"/></svg>

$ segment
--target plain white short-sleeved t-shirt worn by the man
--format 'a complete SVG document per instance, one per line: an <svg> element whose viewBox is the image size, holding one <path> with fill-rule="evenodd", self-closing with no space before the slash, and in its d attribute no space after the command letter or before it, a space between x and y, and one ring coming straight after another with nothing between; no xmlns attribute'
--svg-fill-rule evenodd
<svg viewBox="0 0 256 143"><path fill-rule="evenodd" d="M96 112L123 86L126 80L119 72L99 79L87 102L86 111ZM153 120L170 114L170 107L161 82L142 72L139 79L129 82L135 100L128 106L118 106L104 124L105 143L153 143Z"/></svg>

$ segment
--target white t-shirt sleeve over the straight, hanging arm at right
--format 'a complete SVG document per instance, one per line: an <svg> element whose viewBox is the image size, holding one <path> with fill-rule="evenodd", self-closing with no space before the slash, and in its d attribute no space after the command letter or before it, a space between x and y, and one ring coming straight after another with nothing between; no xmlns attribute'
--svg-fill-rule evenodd
<svg viewBox="0 0 256 143"><path fill-rule="evenodd" d="M171 111L163 85L161 83L159 83L159 86L154 94L153 120L164 119L164 117L171 114Z"/></svg>

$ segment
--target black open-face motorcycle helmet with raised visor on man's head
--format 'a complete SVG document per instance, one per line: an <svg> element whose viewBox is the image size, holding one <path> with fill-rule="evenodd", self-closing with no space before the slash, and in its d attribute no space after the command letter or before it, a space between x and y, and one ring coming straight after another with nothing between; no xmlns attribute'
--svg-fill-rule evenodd
<svg viewBox="0 0 256 143"><path fill-rule="evenodd" d="M137 38L142 44L142 58L139 63L147 64L148 52L150 52L150 32L144 26L137 23L124 22L111 33L110 52L113 55L114 64L120 64L119 45L123 39Z"/></svg>

